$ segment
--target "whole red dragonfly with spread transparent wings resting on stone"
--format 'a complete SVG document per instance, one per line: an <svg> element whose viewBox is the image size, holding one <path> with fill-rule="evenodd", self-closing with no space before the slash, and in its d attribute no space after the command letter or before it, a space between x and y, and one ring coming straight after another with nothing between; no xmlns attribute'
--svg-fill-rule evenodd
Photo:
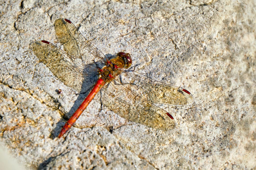
<svg viewBox="0 0 256 170"><path fill-rule="evenodd" d="M100 90L103 105L110 110L132 122L161 130L173 129L175 121L159 104L188 106L194 103L188 90L148 78L136 72L135 66L132 69L129 53L105 56L70 20L57 19L54 27L63 50L45 40L32 42L39 62L76 91L89 90L88 84L95 84L63 126L59 138L72 127Z"/></svg>

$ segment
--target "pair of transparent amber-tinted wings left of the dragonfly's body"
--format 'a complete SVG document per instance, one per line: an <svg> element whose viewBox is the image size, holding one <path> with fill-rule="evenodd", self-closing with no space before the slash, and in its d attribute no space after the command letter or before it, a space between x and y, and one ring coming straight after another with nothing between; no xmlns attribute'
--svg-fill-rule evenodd
<svg viewBox="0 0 256 170"><path fill-rule="evenodd" d="M79 92L87 91L97 81L97 66L105 64L104 55L69 20L57 19L54 26L66 52L42 40L30 44L34 53L64 84Z"/></svg>

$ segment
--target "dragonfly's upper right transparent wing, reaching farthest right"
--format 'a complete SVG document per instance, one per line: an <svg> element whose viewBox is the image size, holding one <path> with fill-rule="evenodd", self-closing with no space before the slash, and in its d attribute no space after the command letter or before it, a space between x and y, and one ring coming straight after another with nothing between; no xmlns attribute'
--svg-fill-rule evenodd
<svg viewBox="0 0 256 170"><path fill-rule="evenodd" d="M123 71L121 77L123 83L130 83L132 93L153 103L170 106L188 106L194 103L192 94L186 89L153 80L136 71Z"/></svg>

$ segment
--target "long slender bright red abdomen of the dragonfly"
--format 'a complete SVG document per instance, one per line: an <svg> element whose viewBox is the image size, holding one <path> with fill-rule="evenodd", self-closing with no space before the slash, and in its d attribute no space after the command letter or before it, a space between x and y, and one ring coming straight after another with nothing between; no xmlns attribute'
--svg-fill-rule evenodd
<svg viewBox="0 0 256 170"><path fill-rule="evenodd" d="M63 126L63 128L60 131L60 134L58 138L61 138L70 128L71 126L76 122L78 117L83 113L83 111L86 109L88 104L92 101L94 96L100 91L100 89L104 86L105 81L103 79L99 79L91 92L88 94L88 96L84 99L83 103L78 107L76 112L69 118L67 123Z"/></svg>

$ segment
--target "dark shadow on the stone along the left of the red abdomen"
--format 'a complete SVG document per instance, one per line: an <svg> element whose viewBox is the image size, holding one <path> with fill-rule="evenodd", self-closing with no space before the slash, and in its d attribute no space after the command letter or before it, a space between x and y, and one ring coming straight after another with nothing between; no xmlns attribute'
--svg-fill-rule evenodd
<svg viewBox="0 0 256 170"><path fill-rule="evenodd" d="M54 139L56 138L64 124L67 122L67 120L73 115L73 113L77 110L77 108L81 105L83 100L86 98L86 96L90 93L91 89L94 87L95 83L98 80L98 72L97 67L102 67L102 63L100 62L93 62L91 64L84 65L83 70L83 81L81 82L81 90L80 93L78 93L78 97L76 101L74 102L73 106L70 108L70 110L65 113L65 115L62 117L62 119L59 120L59 122L56 124L56 127L52 129L50 133L50 138ZM62 93L63 94L63 93Z"/></svg>

